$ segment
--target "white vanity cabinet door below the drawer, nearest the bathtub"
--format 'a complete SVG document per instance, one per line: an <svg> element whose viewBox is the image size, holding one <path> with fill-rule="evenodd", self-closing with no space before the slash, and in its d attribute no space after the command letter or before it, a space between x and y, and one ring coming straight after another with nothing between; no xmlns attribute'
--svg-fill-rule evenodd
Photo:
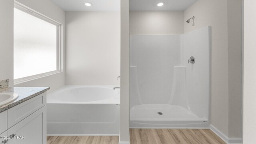
<svg viewBox="0 0 256 144"><path fill-rule="evenodd" d="M8 144L46 144L46 106L7 130Z"/></svg>

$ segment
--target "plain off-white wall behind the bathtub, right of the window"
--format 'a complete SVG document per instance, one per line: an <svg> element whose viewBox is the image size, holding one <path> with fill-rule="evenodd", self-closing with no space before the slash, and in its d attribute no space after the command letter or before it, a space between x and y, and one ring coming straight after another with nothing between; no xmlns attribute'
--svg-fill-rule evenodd
<svg viewBox="0 0 256 144"><path fill-rule="evenodd" d="M66 84L120 85L120 12L66 12Z"/></svg>

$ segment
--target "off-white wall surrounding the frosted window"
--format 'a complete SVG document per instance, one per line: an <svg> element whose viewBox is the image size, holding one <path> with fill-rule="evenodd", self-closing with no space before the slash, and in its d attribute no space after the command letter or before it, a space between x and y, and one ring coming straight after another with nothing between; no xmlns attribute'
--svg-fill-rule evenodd
<svg viewBox="0 0 256 144"><path fill-rule="evenodd" d="M62 42L61 49L62 49L62 56L64 56L65 12L56 4L54 4L51 0L16 0L16 1L63 24L63 26L61 27L61 32L63 33L63 36L61 37L61 42ZM12 11L13 11L13 7L12 7ZM64 57L62 57L61 59L62 59L63 66L65 66ZM23 82L21 84L16 84L15 86L16 87L17 86L50 86L50 90L48 90L48 92L52 92L53 90L56 90L57 88L63 86L65 83L64 67L62 68L62 70L63 72L60 72L58 74L53 74L43 78L38 78L36 80ZM13 73L13 70L12 70L12 73Z"/></svg>

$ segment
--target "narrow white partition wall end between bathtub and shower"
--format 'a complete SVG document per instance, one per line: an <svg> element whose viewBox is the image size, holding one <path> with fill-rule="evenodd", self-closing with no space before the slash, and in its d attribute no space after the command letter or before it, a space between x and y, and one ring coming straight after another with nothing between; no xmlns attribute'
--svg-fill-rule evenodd
<svg viewBox="0 0 256 144"><path fill-rule="evenodd" d="M129 0L121 0L121 91L119 144L130 144L129 132Z"/></svg>

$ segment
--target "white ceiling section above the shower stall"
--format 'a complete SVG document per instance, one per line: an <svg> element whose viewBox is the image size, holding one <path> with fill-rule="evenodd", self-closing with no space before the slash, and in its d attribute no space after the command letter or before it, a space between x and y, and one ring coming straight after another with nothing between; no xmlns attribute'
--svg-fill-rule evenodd
<svg viewBox="0 0 256 144"><path fill-rule="evenodd" d="M186 10L197 0L129 0L131 11L176 11ZM163 6L157 6L159 2L164 2Z"/></svg>

